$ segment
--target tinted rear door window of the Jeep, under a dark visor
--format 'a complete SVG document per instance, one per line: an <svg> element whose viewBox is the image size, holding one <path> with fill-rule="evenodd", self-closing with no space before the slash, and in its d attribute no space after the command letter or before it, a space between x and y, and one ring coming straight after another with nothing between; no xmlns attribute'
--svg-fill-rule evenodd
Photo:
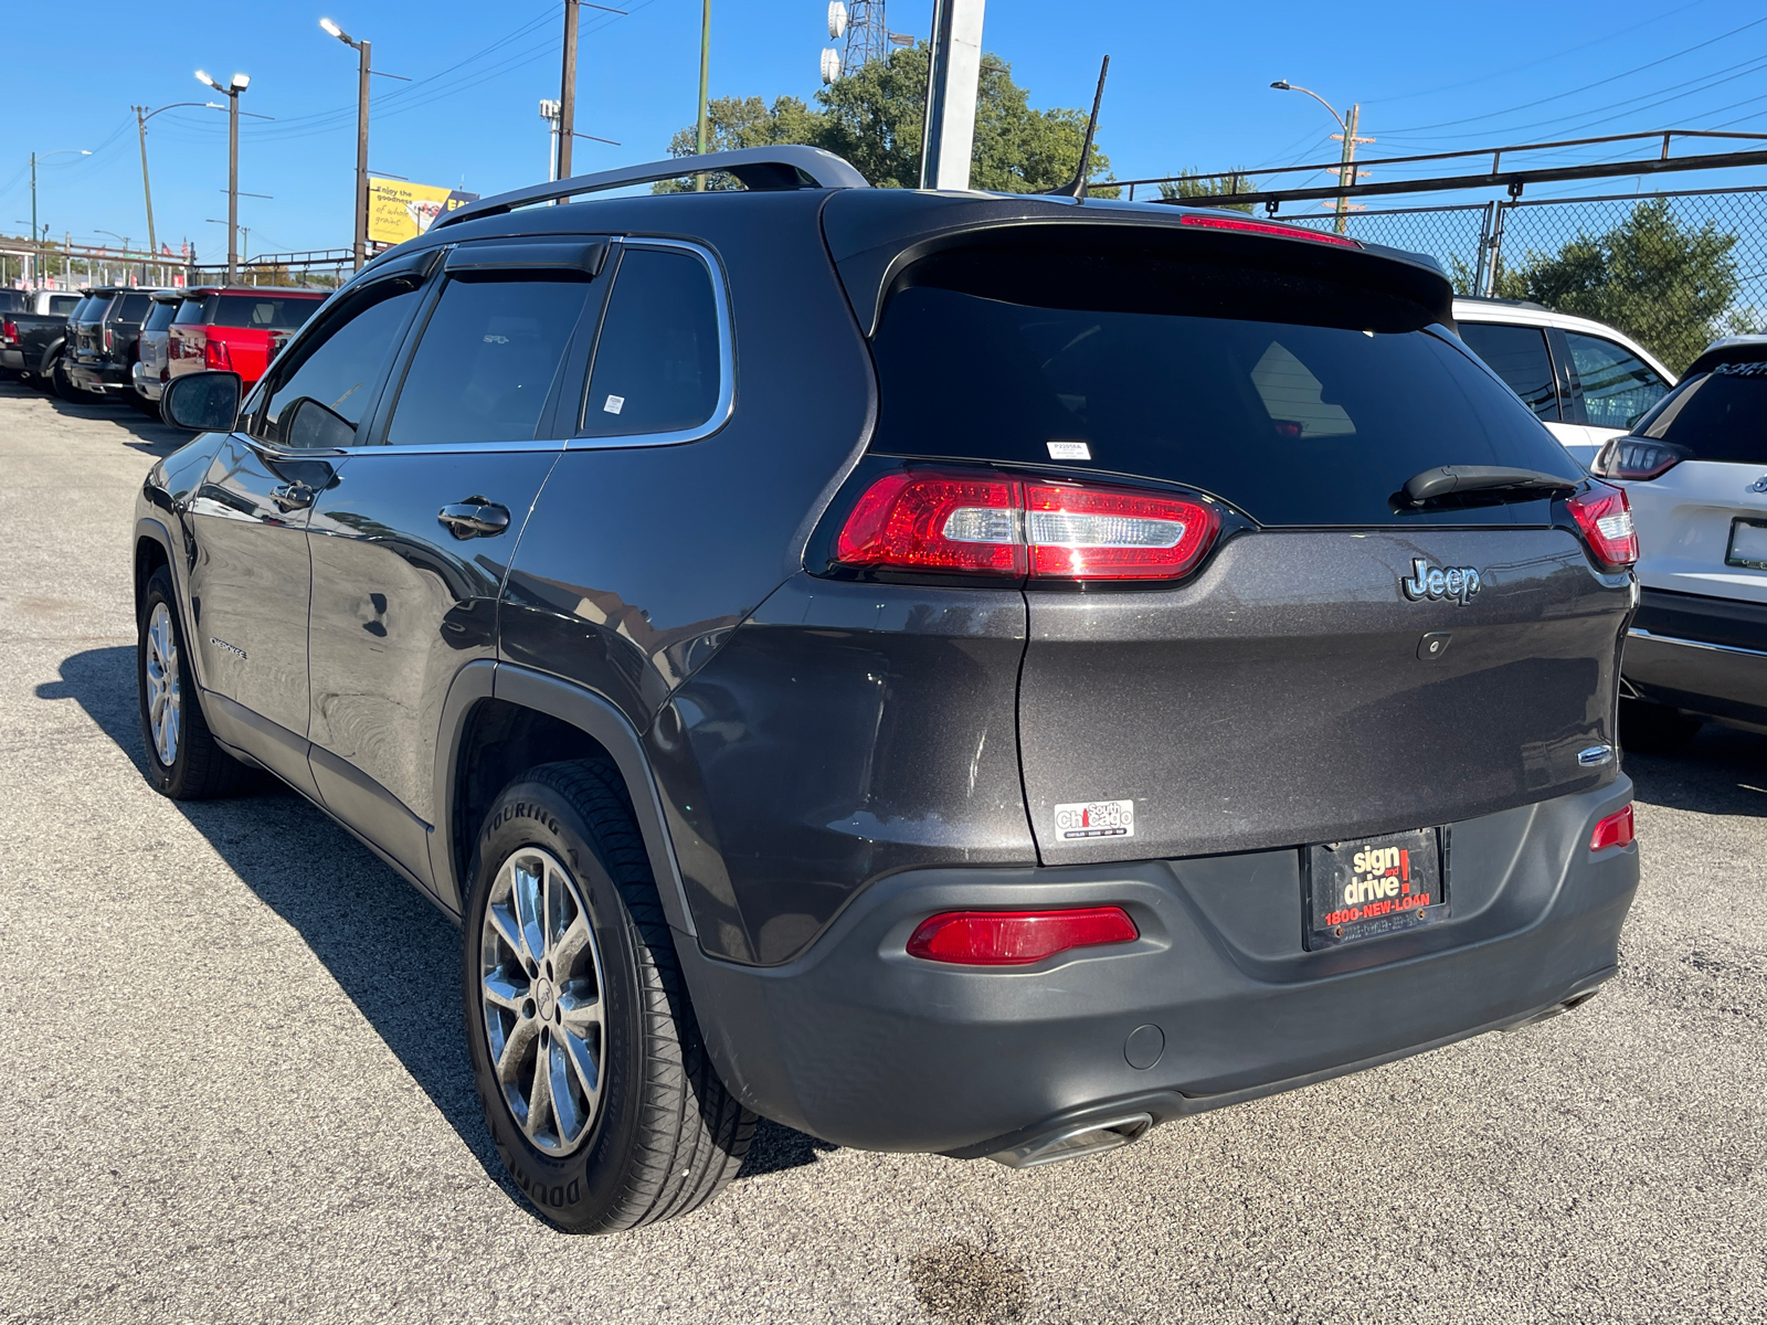
<svg viewBox="0 0 1767 1325"><path fill-rule="evenodd" d="M405 373L387 445L532 442L588 292L587 279L451 279Z"/></svg>

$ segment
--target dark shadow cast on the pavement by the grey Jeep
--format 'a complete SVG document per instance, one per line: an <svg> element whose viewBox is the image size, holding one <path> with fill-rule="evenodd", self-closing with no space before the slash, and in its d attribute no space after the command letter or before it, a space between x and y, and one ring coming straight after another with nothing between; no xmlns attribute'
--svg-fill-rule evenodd
<svg viewBox="0 0 1767 1325"><path fill-rule="evenodd" d="M141 768L134 648L64 659L39 700L76 700ZM239 800L173 802L228 867L307 943L398 1056L486 1175L525 1203L504 1171L461 1030L459 929L304 797L272 781ZM813 1164L827 1141L762 1122L739 1177Z"/></svg>

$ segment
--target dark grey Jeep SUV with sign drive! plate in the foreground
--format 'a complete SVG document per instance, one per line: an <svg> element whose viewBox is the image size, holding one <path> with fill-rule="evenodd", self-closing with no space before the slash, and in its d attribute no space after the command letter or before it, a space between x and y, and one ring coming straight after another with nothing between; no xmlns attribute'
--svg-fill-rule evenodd
<svg viewBox="0 0 1767 1325"><path fill-rule="evenodd" d="M1626 493L1433 263L698 164L749 191L489 198L244 405L175 376L136 507L150 781L269 768L461 920L546 1219L755 1115L1094 1154L1615 972Z"/></svg>

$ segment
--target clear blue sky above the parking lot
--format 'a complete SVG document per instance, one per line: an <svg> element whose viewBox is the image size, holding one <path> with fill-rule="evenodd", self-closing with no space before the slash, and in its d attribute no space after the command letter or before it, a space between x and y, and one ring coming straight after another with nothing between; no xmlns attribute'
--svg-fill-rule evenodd
<svg viewBox="0 0 1767 1325"><path fill-rule="evenodd" d="M610 0L583 11L576 170L666 155L694 117L700 0ZM714 0L712 95L809 99L827 41L825 0ZM474 193L546 177L541 97L558 94L562 4L417 7L389 0L184 0L154 11L95 4L14 18L0 122L0 231L30 217L28 154L88 148L39 166L39 216L60 237L140 244L147 223L131 104L210 99L193 71L251 74L242 106L240 221L253 253L348 244L355 168L355 55L329 16L375 42L371 164ZM171 16L175 14L175 21ZM926 34L931 0L889 0L896 32ZM35 28L35 30L32 30ZM23 37L19 42L18 37ZM995 0L984 46L1012 62L1035 106L1085 106L1111 57L1099 138L1119 177L1311 163L1336 154L1325 111L1362 104L1364 155L1433 152L1663 127L1767 132L1767 18L1737 0L1548 5L1055 4ZM224 253L226 117L168 111L148 125L161 240ZM1668 187L1686 187L1691 177ZM1767 184L1760 168L1725 184ZM1587 187L1587 186L1581 186ZM1546 193L1569 194L1578 186ZM1530 191L1530 196L1536 196Z"/></svg>

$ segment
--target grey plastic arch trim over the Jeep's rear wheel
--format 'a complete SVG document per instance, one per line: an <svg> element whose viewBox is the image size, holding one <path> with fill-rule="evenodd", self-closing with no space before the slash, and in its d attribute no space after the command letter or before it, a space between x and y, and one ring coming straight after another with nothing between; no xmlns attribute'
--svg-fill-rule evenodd
<svg viewBox="0 0 1767 1325"><path fill-rule="evenodd" d="M498 791L525 768L573 758L610 758L618 767L670 928L696 938L663 799L638 730L594 691L491 659L461 668L442 707L438 822L429 837L431 878L442 901L465 913L474 841Z"/></svg>

